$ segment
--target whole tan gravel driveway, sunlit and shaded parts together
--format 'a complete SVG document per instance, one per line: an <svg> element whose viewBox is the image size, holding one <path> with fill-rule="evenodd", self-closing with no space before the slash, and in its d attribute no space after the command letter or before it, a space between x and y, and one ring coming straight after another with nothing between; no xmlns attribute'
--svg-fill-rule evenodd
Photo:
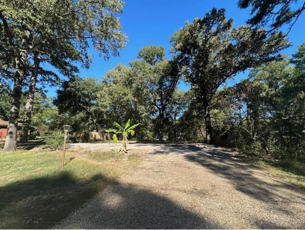
<svg viewBox="0 0 305 230"><path fill-rule="evenodd" d="M217 148L158 147L54 228L305 228L304 190Z"/></svg>

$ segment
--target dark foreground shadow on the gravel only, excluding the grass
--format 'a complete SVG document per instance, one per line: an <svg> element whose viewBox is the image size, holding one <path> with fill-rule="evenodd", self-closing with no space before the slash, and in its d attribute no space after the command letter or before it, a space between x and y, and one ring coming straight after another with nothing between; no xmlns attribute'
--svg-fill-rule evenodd
<svg viewBox="0 0 305 230"><path fill-rule="evenodd" d="M173 201L135 186L117 184L55 228L193 229L223 228Z"/></svg>

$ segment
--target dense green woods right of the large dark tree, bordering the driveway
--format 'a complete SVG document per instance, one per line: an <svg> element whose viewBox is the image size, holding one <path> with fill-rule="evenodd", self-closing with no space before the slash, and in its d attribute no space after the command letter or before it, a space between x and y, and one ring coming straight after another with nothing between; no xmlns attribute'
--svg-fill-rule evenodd
<svg viewBox="0 0 305 230"><path fill-rule="evenodd" d="M219 91L227 96L214 101L213 129L227 126L231 145L246 155L304 162L303 50L301 45L291 61L282 56L253 68L248 79Z"/></svg>

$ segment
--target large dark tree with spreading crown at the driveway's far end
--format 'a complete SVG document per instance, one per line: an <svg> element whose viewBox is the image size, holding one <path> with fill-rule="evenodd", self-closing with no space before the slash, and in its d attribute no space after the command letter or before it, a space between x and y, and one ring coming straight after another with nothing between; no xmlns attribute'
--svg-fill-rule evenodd
<svg viewBox="0 0 305 230"><path fill-rule="evenodd" d="M173 57L202 108L207 143L213 142L210 104L217 89L237 73L271 61L289 45L282 33L268 36L266 30L250 26L233 28L224 13L212 9L171 37Z"/></svg>

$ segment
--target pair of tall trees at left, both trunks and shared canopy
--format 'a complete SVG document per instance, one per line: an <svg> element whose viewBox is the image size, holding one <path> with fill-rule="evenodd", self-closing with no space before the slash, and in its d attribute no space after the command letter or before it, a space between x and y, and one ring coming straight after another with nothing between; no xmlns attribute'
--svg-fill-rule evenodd
<svg viewBox="0 0 305 230"><path fill-rule="evenodd" d="M36 87L37 75L41 82L58 84L58 76L40 67L47 62L68 77L75 76L75 62L88 68L91 55L89 44L108 59L118 56L125 47L127 37L121 31L117 14L122 13L124 2L111 1L65 1L65 0L2 0L0 3L0 75L9 69L13 78L14 93L10 110L9 132L5 151L16 149L16 124L19 118L21 89L28 72L32 72L29 88L29 106L24 122L24 134L30 122L31 102ZM4 44L4 45L2 45ZM32 57L34 64L29 60ZM6 64L7 62L7 64ZM5 63L5 67L2 64ZM14 70L14 71L13 71ZM15 75L11 74L15 72ZM32 89L32 90L30 90Z"/></svg>

